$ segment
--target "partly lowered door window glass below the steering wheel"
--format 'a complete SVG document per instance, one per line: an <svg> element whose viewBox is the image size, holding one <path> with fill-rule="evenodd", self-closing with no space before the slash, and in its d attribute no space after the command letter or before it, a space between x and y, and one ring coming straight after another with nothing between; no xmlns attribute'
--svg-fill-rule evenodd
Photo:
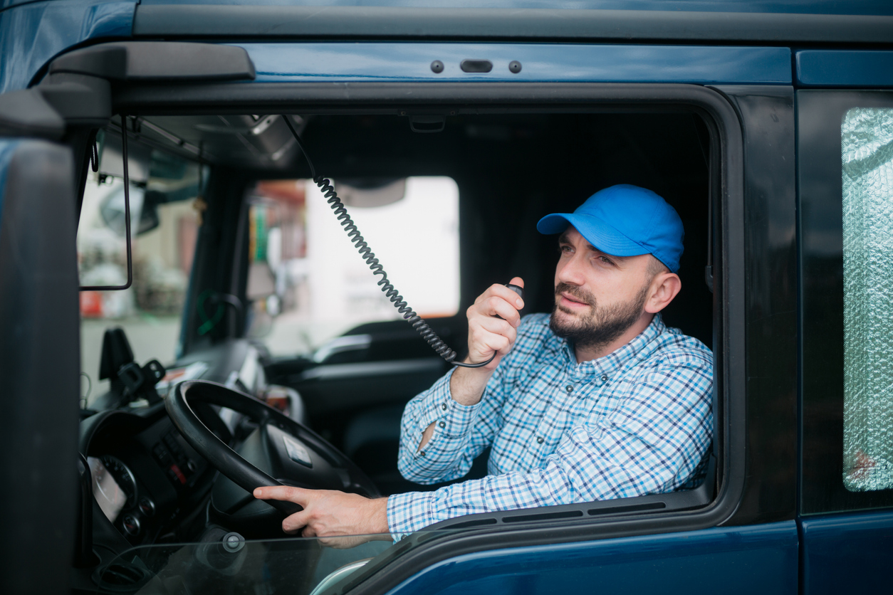
<svg viewBox="0 0 893 595"><path fill-rule="evenodd" d="M221 530L220 532L225 533ZM329 595L345 591L380 566L447 531L420 532L394 542L389 534L360 537L161 544L122 553L97 575L96 592Z"/></svg>

